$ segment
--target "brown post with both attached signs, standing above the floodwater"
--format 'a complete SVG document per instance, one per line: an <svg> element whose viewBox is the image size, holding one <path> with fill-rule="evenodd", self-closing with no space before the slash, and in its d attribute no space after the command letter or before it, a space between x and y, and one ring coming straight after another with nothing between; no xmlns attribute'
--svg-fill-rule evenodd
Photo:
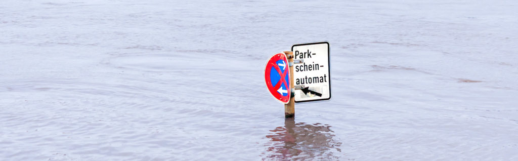
<svg viewBox="0 0 518 161"><path fill-rule="evenodd" d="M264 78L271 96L284 104L285 118L294 118L295 103L331 99L329 42L297 44L274 54Z"/></svg>

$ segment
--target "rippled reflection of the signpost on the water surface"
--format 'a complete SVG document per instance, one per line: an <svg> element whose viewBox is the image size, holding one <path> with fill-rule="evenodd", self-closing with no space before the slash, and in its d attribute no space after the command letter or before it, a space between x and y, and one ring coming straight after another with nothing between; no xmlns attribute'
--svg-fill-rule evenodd
<svg viewBox="0 0 518 161"><path fill-rule="evenodd" d="M341 142L333 139L334 131L327 124L295 123L293 118L286 119L284 126L270 130L266 135L265 159L324 159L336 160L333 152L341 152Z"/></svg>

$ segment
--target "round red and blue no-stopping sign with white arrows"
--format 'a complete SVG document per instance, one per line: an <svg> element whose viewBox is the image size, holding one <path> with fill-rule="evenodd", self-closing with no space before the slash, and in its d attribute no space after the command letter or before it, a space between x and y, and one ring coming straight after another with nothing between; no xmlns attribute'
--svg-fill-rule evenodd
<svg viewBox="0 0 518 161"><path fill-rule="evenodd" d="M270 57L264 69L264 78L272 96L284 104L290 101L290 69L284 53Z"/></svg>

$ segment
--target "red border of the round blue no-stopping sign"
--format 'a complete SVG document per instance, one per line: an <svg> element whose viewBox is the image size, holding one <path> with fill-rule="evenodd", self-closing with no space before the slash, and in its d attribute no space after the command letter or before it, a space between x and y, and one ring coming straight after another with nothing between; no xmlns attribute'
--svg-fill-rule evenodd
<svg viewBox="0 0 518 161"><path fill-rule="evenodd" d="M270 71L271 71L271 67L268 68L268 64L271 64L272 66L276 66L276 67L279 68L279 66L277 64L275 64L275 62L277 62L278 60L281 60L281 58L275 59L275 61L274 61L274 60L272 60L272 58L274 58L275 56L280 56L284 60L284 62L286 62L286 69L284 71L285 71L286 76L288 77L288 82L286 82L286 91L288 92L287 96L282 96L281 94L279 94L277 92L277 90L275 90L274 87L271 85L271 82L268 84L269 77L270 77L269 74L270 74ZM291 75L290 75L290 68L289 68L288 63L289 62L288 62L288 60L286 58L286 55L284 53L277 53L277 54L272 55L268 59L268 61L266 61L266 64L265 64L265 67L264 67L265 68L264 69L264 82L266 84L266 89L268 89L268 92L270 92L270 95L272 97L274 97L277 101L279 101L280 103L283 103L283 104L289 103L290 102L290 98L291 98L291 84L289 84L289 83L291 83L291 79L292 78L290 77ZM282 75L281 75L281 79L284 79L282 77ZM277 98L274 94L280 95L280 96L278 96L279 98ZM285 97L285 98L283 98L283 97Z"/></svg>

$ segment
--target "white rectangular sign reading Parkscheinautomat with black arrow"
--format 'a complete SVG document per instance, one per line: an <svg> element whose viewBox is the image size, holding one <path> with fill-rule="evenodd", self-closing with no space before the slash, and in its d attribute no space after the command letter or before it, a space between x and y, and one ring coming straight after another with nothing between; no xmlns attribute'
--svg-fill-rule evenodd
<svg viewBox="0 0 518 161"><path fill-rule="evenodd" d="M295 103L331 99L329 42L304 43L292 46L293 82L304 87L295 90Z"/></svg>

